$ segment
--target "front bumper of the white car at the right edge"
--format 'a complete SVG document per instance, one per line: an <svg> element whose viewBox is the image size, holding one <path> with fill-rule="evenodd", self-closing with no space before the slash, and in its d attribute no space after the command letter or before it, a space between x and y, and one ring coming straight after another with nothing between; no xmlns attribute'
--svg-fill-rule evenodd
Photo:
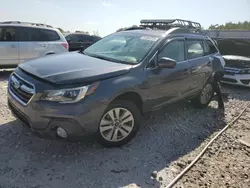
<svg viewBox="0 0 250 188"><path fill-rule="evenodd" d="M232 85L250 87L250 74L225 74L221 81Z"/></svg>

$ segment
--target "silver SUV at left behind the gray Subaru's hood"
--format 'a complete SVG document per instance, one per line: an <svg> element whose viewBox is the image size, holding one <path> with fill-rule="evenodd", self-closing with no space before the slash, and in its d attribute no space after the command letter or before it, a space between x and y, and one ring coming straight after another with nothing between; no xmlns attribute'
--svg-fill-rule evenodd
<svg viewBox="0 0 250 188"><path fill-rule="evenodd" d="M49 25L0 22L0 68L16 67L28 59L68 51L62 33Z"/></svg>

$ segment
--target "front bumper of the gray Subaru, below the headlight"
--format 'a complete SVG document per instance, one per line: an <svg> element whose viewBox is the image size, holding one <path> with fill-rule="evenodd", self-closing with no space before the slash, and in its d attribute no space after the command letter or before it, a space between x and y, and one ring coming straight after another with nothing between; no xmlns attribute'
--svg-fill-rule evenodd
<svg viewBox="0 0 250 188"><path fill-rule="evenodd" d="M40 137L56 138L57 127L62 127L66 130L69 140L96 133L101 116L107 107L88 98L75 104L34 100L23 105L9 91L8 105L14 116Z"/></svg>

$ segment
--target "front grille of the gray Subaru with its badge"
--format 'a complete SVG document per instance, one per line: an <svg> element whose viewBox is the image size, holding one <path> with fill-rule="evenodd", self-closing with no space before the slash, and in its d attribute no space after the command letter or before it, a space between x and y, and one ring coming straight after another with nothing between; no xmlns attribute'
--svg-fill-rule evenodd
<svg viewBox="0 0 250 188"><path fill-rule="evenodd" d="M35 93L35 87L16 74L10 77L10 91L24 104L27 104Z"/></svg>

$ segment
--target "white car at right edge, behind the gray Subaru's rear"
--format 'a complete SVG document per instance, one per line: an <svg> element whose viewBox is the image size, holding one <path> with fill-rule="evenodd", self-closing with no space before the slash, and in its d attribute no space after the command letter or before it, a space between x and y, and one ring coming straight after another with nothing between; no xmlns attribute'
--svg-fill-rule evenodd
<svg viewBox="0 0 250 188"><path fill-rule="evenodd" d="M223 56L226 65L222 82L250 87L250 58L236 55Z"/></svg>

